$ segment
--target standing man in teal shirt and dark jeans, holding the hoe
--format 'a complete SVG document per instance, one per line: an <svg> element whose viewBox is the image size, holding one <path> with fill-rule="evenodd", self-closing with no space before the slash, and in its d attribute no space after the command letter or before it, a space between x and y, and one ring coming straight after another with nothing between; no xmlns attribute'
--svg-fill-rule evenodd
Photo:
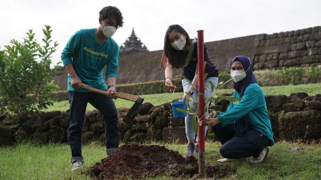
<svg viewBox="0 0 321 180"><path fill-rule="evenodd" d="M71 148L72 171L84 163L82 156L82 128L87 103L98 109L105 120L107 155L111 155L119 144L118 113L113 101L116 92L119 47L111 38L123 25L123 17L117 7L108 6L99 12L99 27L77 31L68 41L61 60L68 72L70 103L69 143ZM103 68L106 68L103 79ZM106 90L106 95L81 89L81 84Z"/></svg>

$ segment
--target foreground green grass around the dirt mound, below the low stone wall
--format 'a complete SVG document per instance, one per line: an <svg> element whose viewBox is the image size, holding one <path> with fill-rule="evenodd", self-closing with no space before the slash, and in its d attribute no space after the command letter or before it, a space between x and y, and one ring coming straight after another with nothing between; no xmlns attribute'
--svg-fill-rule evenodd
<svg viewBox="0 0 321 180"><path fill-rule="evenodd" d="M155 143L154 143L155 144ZM164 145L183 154L186 145ZM229 167L235 173L228 180L320 180L321 146L302 143L278 142L270 147L267 160L251 164L248 160L219 163L220 144L205 142L205 162L219 167ZM293 147L299 150L290 152ZM106 156L105 148L99 145L83 146L84 167L93 166ZM71 172L70 148L67 144L34 145L21 143L0 148L0 180L89 180L80 171ZM172 179L170 177L147 178L150 180Z"/></svg>

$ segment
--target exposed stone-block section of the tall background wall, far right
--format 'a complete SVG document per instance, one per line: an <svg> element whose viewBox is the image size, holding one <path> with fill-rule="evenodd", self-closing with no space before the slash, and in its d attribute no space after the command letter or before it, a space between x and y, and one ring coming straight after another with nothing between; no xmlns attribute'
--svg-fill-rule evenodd
<svg viewBox="0 0 321 180"><path fill-rule="evenodd" d="M259 41L254 69L321 62L321 27L265 35Z"/></svg>

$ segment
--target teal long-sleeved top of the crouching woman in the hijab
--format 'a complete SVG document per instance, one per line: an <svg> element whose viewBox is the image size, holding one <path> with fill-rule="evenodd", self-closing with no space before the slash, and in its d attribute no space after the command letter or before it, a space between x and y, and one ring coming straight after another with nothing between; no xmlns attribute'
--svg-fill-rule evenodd
<svg viewBox="0 0 321 180"><path fill-rule="evenodd" d="M232 96L239 97L234 91ZM274 144L270 118L267 112L263 91L257 83L246 87L241 100L230 102L226 113L218 113L218 120L222 126L232 123L248 115L248 128L256 129Z"/></svg>

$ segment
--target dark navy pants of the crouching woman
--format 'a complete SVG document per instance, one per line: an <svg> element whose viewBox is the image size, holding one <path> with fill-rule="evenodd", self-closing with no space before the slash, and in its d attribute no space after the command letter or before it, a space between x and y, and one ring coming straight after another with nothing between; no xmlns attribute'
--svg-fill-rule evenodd
<svg viewBox="0 0 321 180"><path fill-rule="evenodd" d="M236 137L233 124L224 127L216 124L212 126L212 131L223 145L220 153L228 159L258 157L263 148L271 144L269 139L255 129L248 129L242 137Z"/></svg>

